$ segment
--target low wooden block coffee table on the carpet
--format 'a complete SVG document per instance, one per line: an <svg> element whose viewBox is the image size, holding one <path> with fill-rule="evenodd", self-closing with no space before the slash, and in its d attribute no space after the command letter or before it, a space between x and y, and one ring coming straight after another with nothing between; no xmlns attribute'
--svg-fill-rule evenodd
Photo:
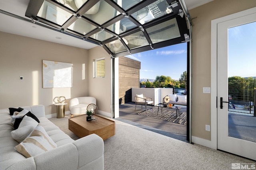
<svg viewBox="0 0 256 170"><path fill-rule="evenodd" d="M116 126L114 121L98 115L93 115L97 121L86 121L86 116L84 114L70 117L68 119L68 129L80 138L95 133L105 140L115 135Z"/></svg>

